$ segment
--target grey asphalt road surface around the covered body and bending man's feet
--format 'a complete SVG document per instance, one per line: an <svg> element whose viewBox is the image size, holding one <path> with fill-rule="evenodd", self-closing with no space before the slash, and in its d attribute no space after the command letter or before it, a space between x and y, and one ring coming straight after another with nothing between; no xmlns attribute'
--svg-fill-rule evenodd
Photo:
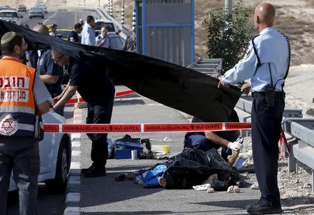
<svg viewBox="0 0 314 215"><path fill-rule="evenodd" d="M124 90L116 86L116 91ZM86 115L86 111L84 113ZM188 122L179 111L138 95L115 99L112 123ZM116 140L124 134L110 134ZM170 145L172 152L183 149L184 133L130 134L135 138L150 138L151 144ZM171 141L163 141L167 137ZM154 141L153 141L154 140ZM87 168L91 141L81 138L81 164ZM246 214L246 205L259 198L259 191L249 188L241 193L187 190L144 189L126 180L115 182L114 175L162 163L158 160L109 159L105 177L81 177L81 214Z"/></svg>

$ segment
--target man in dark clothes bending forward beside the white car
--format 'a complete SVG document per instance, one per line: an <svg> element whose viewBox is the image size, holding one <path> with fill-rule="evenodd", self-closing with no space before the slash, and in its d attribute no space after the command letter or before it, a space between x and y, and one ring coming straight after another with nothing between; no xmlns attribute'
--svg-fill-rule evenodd
<svg viewBox="0 0 314 215"><path fill-rule="evenodd" d="M61 95L54 98L54 109L66 104L76 90L87 102L87 124L109 124L114 102L114 84L107 69L99 70L91 61L78 61L58 51L51 52L54 63L68 66L70 80ZM83 168L84 177L99 177L106 174L108 157L107 134L87 134L92 141L89 168Z"/></svg>

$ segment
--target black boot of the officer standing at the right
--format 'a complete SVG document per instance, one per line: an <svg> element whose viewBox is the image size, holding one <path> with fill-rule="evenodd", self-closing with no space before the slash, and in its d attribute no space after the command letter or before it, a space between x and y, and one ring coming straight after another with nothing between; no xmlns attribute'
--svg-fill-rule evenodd
<svg viewBox="0 0 314 215"><path fill-rule="evenodd" d="M274 207L271 202L260 199L253 205L246 206L248 214L281 214L283 210L281 206Z"/></svg>

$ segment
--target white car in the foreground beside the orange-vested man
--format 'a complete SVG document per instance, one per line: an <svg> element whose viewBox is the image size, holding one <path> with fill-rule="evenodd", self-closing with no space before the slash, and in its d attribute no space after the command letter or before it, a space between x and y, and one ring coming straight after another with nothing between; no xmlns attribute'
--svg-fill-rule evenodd
<svg viewBox="0 0 314 215"><path fill-rule="evenodd" d="M64 124L65 118L52 111L43 115L44 123ZM50 191L62 193L66 189L70 170L71 141L68 134L45 133L39 142L40 173L38 182L45 182ZM11 177L9 191L14 191L16 184Z"/></svg>

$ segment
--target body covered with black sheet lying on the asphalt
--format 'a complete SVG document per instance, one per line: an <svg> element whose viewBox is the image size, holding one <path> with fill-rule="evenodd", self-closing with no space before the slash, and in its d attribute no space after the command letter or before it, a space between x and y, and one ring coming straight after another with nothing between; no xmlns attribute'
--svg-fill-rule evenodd
<svg viewBox="0 0 314 215"><path fill-rule="evenodd" d="M218 175L218 180L227 184L234 184L234 181L239 179L239 173L227 164L215 148L207 152L186 148L165 164L165 189L191 189L214 174Z"/></svg>

